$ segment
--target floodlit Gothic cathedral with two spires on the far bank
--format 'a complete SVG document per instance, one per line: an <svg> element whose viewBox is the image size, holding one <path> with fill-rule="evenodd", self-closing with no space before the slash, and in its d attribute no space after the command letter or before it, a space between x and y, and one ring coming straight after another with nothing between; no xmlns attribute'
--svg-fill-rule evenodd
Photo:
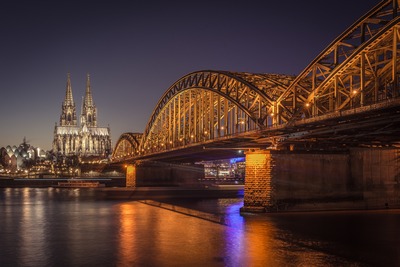
<svg viewBox="0 0 400 267"><path fill-rule="evenodd" d="M71 79L68 74L60 125L56 123L54 127L53 152L65 156L107 157L111 154L111 149L110 128L97 126L97 108L92 98L89 74L79 125L72 97Z"/></svg>

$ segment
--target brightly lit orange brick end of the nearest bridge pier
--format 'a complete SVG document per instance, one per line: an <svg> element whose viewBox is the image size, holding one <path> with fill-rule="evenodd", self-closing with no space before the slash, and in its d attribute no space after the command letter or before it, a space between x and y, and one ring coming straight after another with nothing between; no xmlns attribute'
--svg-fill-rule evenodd
<svg viewBox="0 0 400 267"><path fill-rule="evenodd" d="M246 155L244 206L241 212L266 212L273 205L273 158L269 150L249 151Z"/></svg>

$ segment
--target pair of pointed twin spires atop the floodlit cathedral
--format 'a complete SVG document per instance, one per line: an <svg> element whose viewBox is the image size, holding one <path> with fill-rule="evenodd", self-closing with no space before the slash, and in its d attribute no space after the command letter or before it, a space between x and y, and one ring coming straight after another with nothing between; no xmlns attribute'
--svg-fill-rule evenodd
<svg viewBox="0 0 400 267"><path fill-rule="evenodd" d="M86 92L82 101L80 122L82 126L97 127L97 109L94 105L90 89L90 76L87 74ZM77 126L76 107L72 96L71 76L69 73L67 75L67 88L60 116L60 126Z"/></svg>

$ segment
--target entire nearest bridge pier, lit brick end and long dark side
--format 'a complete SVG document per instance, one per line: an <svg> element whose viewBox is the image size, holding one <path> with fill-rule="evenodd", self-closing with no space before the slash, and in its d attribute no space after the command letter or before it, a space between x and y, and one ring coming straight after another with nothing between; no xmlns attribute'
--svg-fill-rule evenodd
<svg viewBox="0 0 400 267"><path fill-rule="evenodd" d="M246 153L241 212L399 207L399 149Z"/></svg>

